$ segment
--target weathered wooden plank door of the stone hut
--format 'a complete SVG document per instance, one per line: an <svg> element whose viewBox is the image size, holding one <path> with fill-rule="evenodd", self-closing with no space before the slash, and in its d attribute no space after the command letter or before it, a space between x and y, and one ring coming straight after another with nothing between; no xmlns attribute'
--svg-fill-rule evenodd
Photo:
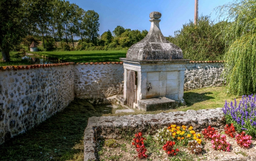
<svg viewBox="0 0 256 161"><path fill-rule="evenodd" d="M135 71L127 70L127 105L133 108L133 102L137 103L137 86Z"/></svg>

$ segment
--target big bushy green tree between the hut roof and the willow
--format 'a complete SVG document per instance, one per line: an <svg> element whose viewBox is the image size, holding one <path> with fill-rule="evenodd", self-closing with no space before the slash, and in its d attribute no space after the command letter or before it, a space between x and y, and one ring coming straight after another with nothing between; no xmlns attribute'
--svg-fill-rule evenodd
<svg viewBox="0 0 256 161"><path fill-rule="evenodd" d="M167 39L179 46L183 57L191 60L222 60L225 44L222 41L221 30L225 22L214 23L209 16L201 16L198 23L193 21L183 24L181 30L174 32L174 37Z"/></svg>

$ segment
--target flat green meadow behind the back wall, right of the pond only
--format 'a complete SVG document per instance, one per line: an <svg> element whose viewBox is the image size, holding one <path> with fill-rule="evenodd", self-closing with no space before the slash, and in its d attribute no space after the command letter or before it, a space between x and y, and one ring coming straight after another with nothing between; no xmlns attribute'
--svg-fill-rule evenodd
<svg viewBox="0 0 256 161"><path fill-rule="evenodd" d="M32 52L31 52L32 53ZM60 59L63 62L120 62L126 57L127 50L95 50L95 51L42 51L36 52L49 59Z"/></svg>

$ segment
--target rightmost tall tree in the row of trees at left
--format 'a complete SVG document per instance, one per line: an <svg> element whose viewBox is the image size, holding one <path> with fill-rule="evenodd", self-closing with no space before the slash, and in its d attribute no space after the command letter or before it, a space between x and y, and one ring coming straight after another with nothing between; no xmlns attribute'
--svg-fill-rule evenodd
<svg viewBox="0 0 256 161"><path fill-rule="evenodd" d="M99 14L94 10L88 10L85 13L85 19L83 19L83 22L85 23L86 36L89 38L91 43L96 45L100 27Z"/></svg>

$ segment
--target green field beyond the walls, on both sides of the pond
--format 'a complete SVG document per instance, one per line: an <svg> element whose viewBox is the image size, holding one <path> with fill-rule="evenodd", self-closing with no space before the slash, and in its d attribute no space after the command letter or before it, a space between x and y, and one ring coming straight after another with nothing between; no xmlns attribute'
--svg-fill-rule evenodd
<svg viewBox="0 0 256 161"><path fill-rule="evenodd" d="M22 55L18 52L10 52L11 62L5 63L0 60L0 66L8 65L31 65L32 62L21 59ZM127 50L96 50L96 51L41 51L41 52L29 52L35 53L40 56L48 57L54 62L120 62L119 58L125 58ZM0 59L2 55L0 54Z"/></svg>

